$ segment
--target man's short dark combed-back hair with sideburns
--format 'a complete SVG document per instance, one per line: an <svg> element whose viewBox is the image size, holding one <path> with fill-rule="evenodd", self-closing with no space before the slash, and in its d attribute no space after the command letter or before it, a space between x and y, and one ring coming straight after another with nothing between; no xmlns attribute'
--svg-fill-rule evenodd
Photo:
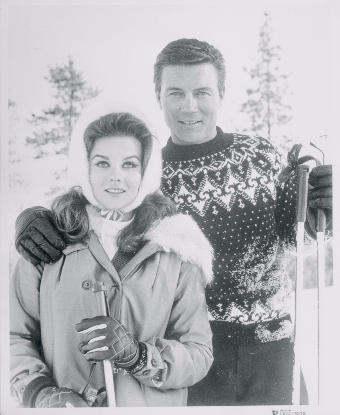
<svg viewBox="0 0 340 415"><path fill-rule="evenodd" d="M154 64L154 84L156 92L161 90L162 72L169 65L199 65L211 63L217 73L218 90L225 90L225 65L221 52L213 45L197 39L178 39L168 43L157 56Z"/></svg>

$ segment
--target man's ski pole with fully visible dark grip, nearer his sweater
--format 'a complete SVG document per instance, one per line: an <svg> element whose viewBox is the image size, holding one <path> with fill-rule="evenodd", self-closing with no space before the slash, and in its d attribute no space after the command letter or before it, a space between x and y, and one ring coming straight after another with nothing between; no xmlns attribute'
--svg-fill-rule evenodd
<svg viewBox="0 0 340 415"><path fill-rule="evenodd" d="M303 235L307 211L309 166L296 166L296 277L295 277L295 321L294 321L294 369L293 369L293 404L300 403L301 381L301 295L303 289Z"/></svg>

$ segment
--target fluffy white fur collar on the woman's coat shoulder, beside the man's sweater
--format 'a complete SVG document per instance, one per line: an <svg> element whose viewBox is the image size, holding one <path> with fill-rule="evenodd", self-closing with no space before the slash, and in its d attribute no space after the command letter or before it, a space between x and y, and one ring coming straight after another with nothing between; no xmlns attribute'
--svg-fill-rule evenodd
<svg viewBox="0 0 340 415"><path fill-rule="evenodd" d="M205 284L213 281L213 248L191 216L165 217L145 238L165 252L175 252L183 261L198 266Z"/></svg>

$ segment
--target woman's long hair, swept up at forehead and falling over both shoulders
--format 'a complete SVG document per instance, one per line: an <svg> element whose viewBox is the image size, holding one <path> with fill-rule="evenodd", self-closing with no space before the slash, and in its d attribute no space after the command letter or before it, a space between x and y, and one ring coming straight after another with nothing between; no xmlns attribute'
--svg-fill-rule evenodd
<svg viewBox="0 0 340 415"><path fill-rule="evenodd" d="M91 122L84 131L84 143L89 156L93 145L101 137L135 137L142 146L142 176L152 152L152 134L147 126L128 112L113 112ZM88 237L90 221L86 212L88 200L80 187L73 187L54 199L52 213L56 228L67 244L80 242ZM159 193L147 195L135 210L134 220L122 229L117 238L117 246L125 253L134 253L144 244L144 234L159 221L176 213L171 200Z"/></svg>

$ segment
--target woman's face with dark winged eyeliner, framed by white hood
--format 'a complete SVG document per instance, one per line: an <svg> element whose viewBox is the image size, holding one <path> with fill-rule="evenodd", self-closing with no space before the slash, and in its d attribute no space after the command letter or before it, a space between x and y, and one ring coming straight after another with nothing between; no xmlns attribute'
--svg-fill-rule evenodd
<svg viewBox="0 0 340 415"><path fill-rule="evenodd" d="M121 210L135 200L142 179L142 146L132 136L101 137L89 156L90 183L98 203ZM130 220L133 212L125 213Z"/></svg>

